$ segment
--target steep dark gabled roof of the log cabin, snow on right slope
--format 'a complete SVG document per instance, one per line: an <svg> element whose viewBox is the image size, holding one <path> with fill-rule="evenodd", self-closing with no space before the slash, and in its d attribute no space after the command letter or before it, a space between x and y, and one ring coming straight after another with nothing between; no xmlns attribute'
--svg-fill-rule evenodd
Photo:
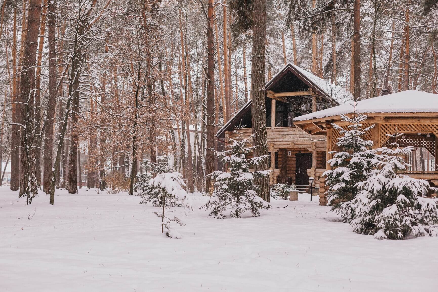
<svg viewBox="0 0 438 292"><path fill-rule="evenodd" d="M292 72L301 81L303 81L307 86L312 88L318 95L325 96L330 100L333 106L338 106L346 101L352 99L350 92L344 90L343 88L331 84L330 82L311 74L310 72L294 65L292 63L286 64L279 73L277 73L271 80L265 85L265 92L270 90L277 82L279 82L283 76ZM233 130L234 125L242 119L242 117L251 110L251 100L247 102L219 131L216 133L216 137L224 138L225 131Z"/></svg>

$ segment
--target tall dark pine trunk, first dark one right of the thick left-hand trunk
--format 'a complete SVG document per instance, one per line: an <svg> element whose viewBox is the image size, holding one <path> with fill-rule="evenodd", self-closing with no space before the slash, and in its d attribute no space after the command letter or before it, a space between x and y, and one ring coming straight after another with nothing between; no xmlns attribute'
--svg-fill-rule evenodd
<svg viewBox="0 0 438 292"><path fill-rule="evenodd" d="M43 156L43 190L50 193L50 179L52 174L52 155L53 155L53 122L55 119L56 108L56 48L55 48L55 29L56 29L56 1L48 1L47 27L49 41L49 95L46 109L46 121L44 126L44 156Z"/></svg>

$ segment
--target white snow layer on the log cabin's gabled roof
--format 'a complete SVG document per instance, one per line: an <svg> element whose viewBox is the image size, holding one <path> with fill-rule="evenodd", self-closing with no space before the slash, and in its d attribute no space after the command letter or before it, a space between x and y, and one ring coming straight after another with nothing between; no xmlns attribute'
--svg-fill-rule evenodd
<svg viewBox="0 0 438 292"><path fill-rule="evenodd" d="M301 67L298 67L293 63L287 63L283 67L283 69L280 70L276 75L274 75L274 77L272 77L271 80L269 80L268 83L266 84L270 84L288 66L293 67L293 69L297 70L300 74L302 74L305 78L307 78L309 81L311 81L316 86L318 86L321 89L321 91L325 92L325 94L327 94L329 97L331 97L339 104L343 105L344 103L353 100L353 95L349 91L346 91L342 87L332 84L330 83L330 81L322 79L312 74L311 72L304 70Z"/></svg>

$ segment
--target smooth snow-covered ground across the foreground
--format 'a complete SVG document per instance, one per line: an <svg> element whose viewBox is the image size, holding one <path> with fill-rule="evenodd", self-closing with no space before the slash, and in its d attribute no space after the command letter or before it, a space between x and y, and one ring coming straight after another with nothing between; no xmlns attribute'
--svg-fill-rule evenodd
<svg viewBox="0 0 438 292"><path fill-rule="evenodd" d="M1 292L438 291L438 238L359 235L309 195L222 220L191 196L194 211L175 211L183 239L126 193L17 197L0 187Z"/></svg>

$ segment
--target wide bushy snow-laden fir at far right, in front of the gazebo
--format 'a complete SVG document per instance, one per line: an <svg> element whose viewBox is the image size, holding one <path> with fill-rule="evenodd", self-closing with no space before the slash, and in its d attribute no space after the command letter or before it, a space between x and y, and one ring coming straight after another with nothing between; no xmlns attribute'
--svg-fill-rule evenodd
<svg viewBox="0 0 438 292"><path fill-rule="evenodd" d="M360 191L351 202L357 216L351 222L355 232L377 239L438 236L438 201L421 197L429 183L397 173L410 166L403 157L412 150L412 146L400 148L397 142L378 149L381 155L372 161L374 174L357 183Z"/></svg>

